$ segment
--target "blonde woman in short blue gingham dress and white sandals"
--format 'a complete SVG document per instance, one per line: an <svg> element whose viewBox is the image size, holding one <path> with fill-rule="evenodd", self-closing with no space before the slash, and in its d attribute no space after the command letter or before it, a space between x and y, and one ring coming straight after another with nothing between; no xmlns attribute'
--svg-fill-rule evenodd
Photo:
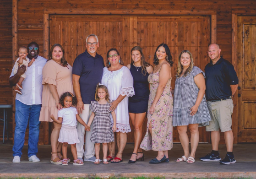
<svg viewBox="0 0 256 179"><path fill-rule="evenodd" d="M173 126L177 126L184 156L176 162L194 163L199 143L198 127L209 125L209 114L205 98L205 73L193 65L192 54L183 50L177 68L174 89ZM191 153L187 128L191 132ZM188 159L187 159L188 158Z"/></svg>

